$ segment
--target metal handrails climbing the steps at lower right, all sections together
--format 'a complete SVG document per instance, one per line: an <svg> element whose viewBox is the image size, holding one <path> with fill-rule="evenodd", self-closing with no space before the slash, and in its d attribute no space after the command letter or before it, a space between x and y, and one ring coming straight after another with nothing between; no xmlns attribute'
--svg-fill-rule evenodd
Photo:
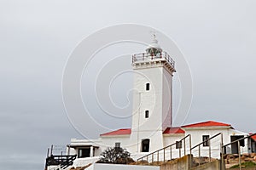
<svg viewBox="0 0 256 170"><path fill-rule="evenodd" d="M189 134L174 144L170 144L163 149L156 150L146 156L138 158L137 162L147 161L147 163L151 163L159 161L169 161L190 154L193 155L193 160L190 160L190 162L192 163L192 167L200 166L201 164L210 161L220 160L221 169L224 170L224 157L226 159L229 155L227 154L227 149L229 149L228 151L230 151L230 148L232 149L232 146L230 145L236 144L236 156L239 156L238 163L241 169L241 163L243 160L242 154L248 155L250 153L256 153L256 133L250 134L241 139L236 139L229 144L223 143L223 133L217 133L211 138L209 135L206 136L208 136L207 139L203 139L200 144L196 144L195 146L191 147L191 136ZM247 147L242 147L246 145ZM231 153L233 153L232 150ZM252 154L252 156L254 155Z"/></svg>

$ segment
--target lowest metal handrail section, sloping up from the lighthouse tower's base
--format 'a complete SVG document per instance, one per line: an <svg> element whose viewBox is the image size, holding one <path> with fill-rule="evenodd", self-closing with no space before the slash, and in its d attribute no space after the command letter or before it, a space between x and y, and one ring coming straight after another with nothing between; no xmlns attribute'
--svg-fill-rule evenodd
<svg viewBox="0 0 256 170"><path fill-rule="evenodd" d="M189 139L189 142L186 142L186 139ZM174 156L174 151L178 150L178 156ZM183 153L182 153L183 152ZM186 154L191 154L191 135L188 134L183 139L180 139L174 144L170 144L160 150L155 150L154 152L140 157L137 159L137 163L139 161L147 161L148 163L154 161L168 161L172 160L173 158L182 157ZM176 154L177 155L177 154Z"/></svg>

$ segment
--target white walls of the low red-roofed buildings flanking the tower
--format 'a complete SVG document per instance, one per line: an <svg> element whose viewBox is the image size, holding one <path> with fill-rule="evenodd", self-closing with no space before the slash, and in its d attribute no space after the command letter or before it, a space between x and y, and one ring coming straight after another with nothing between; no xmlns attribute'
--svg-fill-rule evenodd
<svg viewBox="0 0 256 170"><path fill-rule="evenodd" d="M162 136L163 138L163 143L164 146L170 145L170 144L175 144L176 141L179 141L180 139L183 139L184 136L191 134L191 146L195 146L196 144L200 144L202 142L202 135L210 135L210 138L214 136L217 133L223 133L223 139L224 139L224 144L230 143L230 136L231 135L247 135L247 133L242 133L239 131L236 131L234 129L231 129L229 127L198 127L198 128L183 128L185 130L185 133L183 134L164 134ZM146 132L145 132L146 133ZM146 133L149 138L150 138L150 132ZM159 134L160 135L160 134ZM131 153L131 157L137 161L137 158L140 158L142 156L148 155L148 152L137 152L137 151L132 151L132 150L137 150L137 144L132 143L130 140L130 135L120 135L120 136L108 136L108 137L102 137L102 139L99 139L102 141L102 145L100 146L101 151L105 150L107 147L113 147L116 142L121 143L121 147L127 149ZM158 145L158 141L152 141L152 143L155 144L154 150L150 150L150 152L153 152L155 150L162 149L163 147ZM180 156L184 155L184 150L186 154L189 154L189 139L186 139L186 147L181 149L181 152L179 152L178 149L176 149L176 146L172 146L172 158L177 158ZM221 137L218 136L216 139L212 139L211 141L211 156L214 158L219 158L220 155L220 143L221 143ZM245 147L241 147L241 153L247 152L247 140L245 140ZM152 146L150 146L152 147ZM199 156L198 155L198 148L192 150L192 154L194 156ZM227 150L229 151L229 150ZM98 152L98 156L100 155L101 152ZM74 166L75 167L83 167L84 165L87 165L89 163L93 163L99 159L99 157L88 157L88 158L79 158L74 161ZM209 147L203 147L201 145L201 156L209 156ZM156 160L157 155L154 155L154 161ZM159 161L163 160L164 157L164 152L163 150L160 151L159 153ZM166 160L171 159L171 150L166 149L165 150L165 157ZM152 156L148 156L148 161L151 161Z"/></svg>

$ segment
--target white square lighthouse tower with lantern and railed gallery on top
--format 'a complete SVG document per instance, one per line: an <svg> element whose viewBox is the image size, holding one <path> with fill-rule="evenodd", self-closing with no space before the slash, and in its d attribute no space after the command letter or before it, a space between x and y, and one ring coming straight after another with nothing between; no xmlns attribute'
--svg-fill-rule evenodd
<svg viewBox="0 0 256 170"><path fill-rule="evenodd" d="M150 152L164 146L163 131L172 127L174 61L153 38L146 53L132 56L133 109L131 152Z"/></svg>

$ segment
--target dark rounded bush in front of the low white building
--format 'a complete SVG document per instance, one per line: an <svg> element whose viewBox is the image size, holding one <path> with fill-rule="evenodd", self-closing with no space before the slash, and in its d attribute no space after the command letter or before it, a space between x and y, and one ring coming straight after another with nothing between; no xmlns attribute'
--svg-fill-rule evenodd
<svg viewBox="0 0 256 170"><path fill-rule="evenodd" d="M128 164L133 162L130 153L123 148L114 147L107 148L101 154L101 158L97 163L115 163L115 164Z"/></svg>

